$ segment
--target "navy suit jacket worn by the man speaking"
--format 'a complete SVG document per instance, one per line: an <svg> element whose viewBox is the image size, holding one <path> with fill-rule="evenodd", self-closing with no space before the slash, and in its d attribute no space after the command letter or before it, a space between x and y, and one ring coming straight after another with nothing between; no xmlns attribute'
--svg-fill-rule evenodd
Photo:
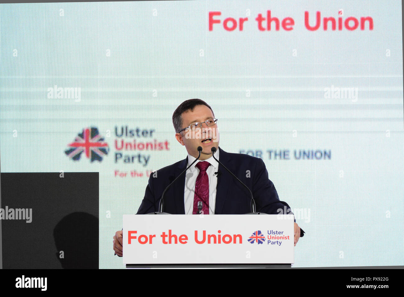
<svg viewBox="0 0 404 297"><path fill-rule="evenodd" d="M219 161L237 176L252 192L257 212L278 214L278 209L290 209L289 205L279 200L274 184L268 178L265 163L260 158L244 154L227 153L219 147ZM149 177L145 197L137 214L158 211L160 198L164 189L187 168L188 157L173 165L166 166ZM217 174L215 214L244 214L251 212L250 192L222 165ZM164 194L164 212L185 214L184 207L185 173ZM301 236L304 231L301 230Z"/></svg>

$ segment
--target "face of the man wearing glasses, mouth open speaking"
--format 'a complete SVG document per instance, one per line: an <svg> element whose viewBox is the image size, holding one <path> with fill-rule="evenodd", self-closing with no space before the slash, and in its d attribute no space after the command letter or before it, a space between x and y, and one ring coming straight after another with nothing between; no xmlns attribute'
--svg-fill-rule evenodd
<svg viewBox="0 0 404 297"><path fill-rule="evenodd" d="M182 113L182 128L185 128L192 123L202 123L207 119L214 118L212 111L206 105L197 105L194 111L187 111ZM219 148L219 130L217 124L213 126L206 126L206 123L202 123L202 128L192 132L190 129L186 129L180 133L175 134L178 142L185 145L189 155L198 157L198 146L202 146L202 152L200 160L206 160L212 156L210 150L213 146ZM210 140L202 142L202 140Z"/></svg>

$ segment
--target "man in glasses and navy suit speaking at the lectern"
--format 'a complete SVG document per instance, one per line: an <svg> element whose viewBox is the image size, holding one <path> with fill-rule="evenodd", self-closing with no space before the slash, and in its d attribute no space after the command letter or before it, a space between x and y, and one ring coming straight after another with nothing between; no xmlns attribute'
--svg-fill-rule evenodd
<svg viewBox="0 0 404 297"><path fill-rule="evenodd" d="M173 113L175 138L185 146L187 158L151 173L145 197L137 214L158 212L162 193L171 183L173 184L164 194L164 212L166 213L250 213L250 191L254 197L257 212L286 214L284 213L286 209L288 213L291 213L289 205L279 200L262 159L244 154L227 153L219 147L218 121L212 108L203 100L185 100L177 107ZM237 129L236 126L235 129ZM202 148L200 153L198 147ZM239 180L215 160L213 147L216 148L215 158ZM191 165L198 157L198 161ZM189 165L191 167L182 174ZM295 220L295 245L303 234L304 231ZM122 230L117 231L114 236L114 251L116 255L122 257Z"/></svg>

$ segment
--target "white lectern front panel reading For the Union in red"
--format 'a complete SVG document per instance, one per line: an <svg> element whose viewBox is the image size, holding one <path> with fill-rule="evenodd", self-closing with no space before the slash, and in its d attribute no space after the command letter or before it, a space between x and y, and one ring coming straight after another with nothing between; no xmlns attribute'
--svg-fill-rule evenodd
<svg viewBox="0 0 404 297"><path fill-rule="evenodd" d="M274 268L294 261L293 215L124 215L126 268Z"/></svg>

